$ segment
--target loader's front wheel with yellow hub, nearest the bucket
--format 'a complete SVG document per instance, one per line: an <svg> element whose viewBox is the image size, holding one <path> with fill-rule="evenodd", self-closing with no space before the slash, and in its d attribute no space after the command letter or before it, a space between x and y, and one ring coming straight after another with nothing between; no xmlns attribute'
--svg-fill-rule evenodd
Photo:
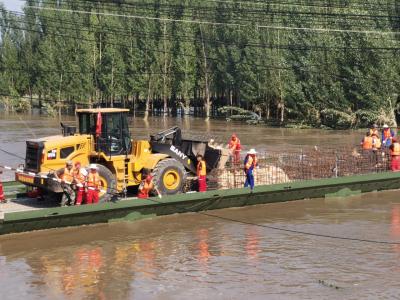
<svg viewBox="0 0 400 300"><path fill-rule="evenodd" d="M153 182L162 195L175 195L182 192L186 181L185 167L176 159L160 161L152 171Z"/></svg>

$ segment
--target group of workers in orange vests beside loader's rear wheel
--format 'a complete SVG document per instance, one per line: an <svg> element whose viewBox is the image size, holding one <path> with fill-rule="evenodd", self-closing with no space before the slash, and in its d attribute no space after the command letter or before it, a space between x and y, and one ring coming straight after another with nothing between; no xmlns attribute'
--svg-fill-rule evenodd
<svg viewBox="0 0 400 300"><path fill-rule="evenodd" d="M99 202L101 180L96 164L90 164L87 172L80 162L74 165L72 161L67 161L65 168L54 175L63 189L61 206Z"/></svg>

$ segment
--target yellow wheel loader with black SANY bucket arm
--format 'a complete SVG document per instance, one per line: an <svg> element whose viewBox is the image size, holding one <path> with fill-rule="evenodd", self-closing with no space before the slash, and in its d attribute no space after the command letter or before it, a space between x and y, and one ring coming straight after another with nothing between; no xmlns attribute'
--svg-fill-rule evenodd
<svg viewBox="0 0 400 300"><path fill-rule="evenodd" d="M187 175L196 173L196 155L207 161L209 171L222 168L225 150L215 149L204 140L182 139L178 127L133 141L128 127L128 109L98 108L76 110L78 126L62 126L62 135L26 142L23 171L16 180L50 193L63 192L54 174L67 161L83 167L95 163L103 186L100 201L108 201L129 187L138 186L144 170L150 170L161 194L182 191ZM106 191L106 192L105 192Z"/></svg>

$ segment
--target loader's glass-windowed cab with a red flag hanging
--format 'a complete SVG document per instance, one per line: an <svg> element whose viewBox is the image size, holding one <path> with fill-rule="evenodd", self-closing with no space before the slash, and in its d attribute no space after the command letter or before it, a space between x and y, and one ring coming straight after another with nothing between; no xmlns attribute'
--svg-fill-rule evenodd
<svg viewBox="0 0 400 300"><path fill-rule="evenodd" d="M127 155L131 151L128 109L78 109L80 134L90 134L97 152L107 156Z"/></svg>

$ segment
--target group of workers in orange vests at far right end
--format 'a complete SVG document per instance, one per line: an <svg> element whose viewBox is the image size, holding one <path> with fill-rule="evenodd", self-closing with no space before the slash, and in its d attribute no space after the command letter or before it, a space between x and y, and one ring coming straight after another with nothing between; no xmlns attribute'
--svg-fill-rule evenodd
<svg viewBox="0 0 400 300"><path fill-rule="evenodd" d="M378 125L372 125L362 139L361 147L364 154L372 153L376 160L378 160L379 150L389 149L390 168L392 171L400 171L400 143L396 139L394 130L387 124L383 125L381 133L379 133Z"/></svg>

